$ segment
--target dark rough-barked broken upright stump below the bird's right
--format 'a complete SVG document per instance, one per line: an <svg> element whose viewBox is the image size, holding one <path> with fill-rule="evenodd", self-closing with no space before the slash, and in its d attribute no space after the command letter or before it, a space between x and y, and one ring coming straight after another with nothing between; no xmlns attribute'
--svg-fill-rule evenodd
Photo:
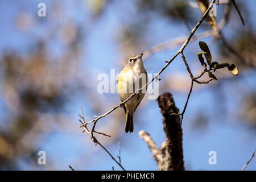
<svg viewBox="0 0 256 182"><path fill-rule="evenodd" d="M170 92L161 94L158 99L160 113L163 115L163 127L166 134L166 140L160 147L163 155L163 164L159 169L168 171L183 171L183 147L182 147L182 129L179 115L170 115L179 113L175 106L174 98Z"/></svg>

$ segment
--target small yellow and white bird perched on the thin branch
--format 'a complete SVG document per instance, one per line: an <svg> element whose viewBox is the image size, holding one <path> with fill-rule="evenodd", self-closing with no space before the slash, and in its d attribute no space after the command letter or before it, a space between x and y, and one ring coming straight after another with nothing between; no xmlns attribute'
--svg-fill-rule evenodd
<svg viewBox="0 0 256 182"><path fill-rule="evenodd" d="M147 84L147 72L143 65L142 55L143 53L140 55L132 55L125 59L125 65L117 80L118 93L122 102ZM126 114L126 133L129 131L130 133L133 132L133 114L144 97L146 90L147 86L122 106Z"/></svg>

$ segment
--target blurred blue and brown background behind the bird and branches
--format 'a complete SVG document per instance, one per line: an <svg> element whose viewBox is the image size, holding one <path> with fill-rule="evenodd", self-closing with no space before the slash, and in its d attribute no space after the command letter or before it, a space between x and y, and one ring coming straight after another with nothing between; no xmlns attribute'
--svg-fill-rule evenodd
<svg viewBox="0 0 256 182"><path fill-rule="evenodd" d="M38 4L46 3L46 17ZM220 1L221 2L221 1ZM203 69L197 59L199 40L206 42L213 60L236 63L234 76L218 70L219 81L194 84L183 119L183 149L187 170L241 170L256 147L256 73L254 0L238 1L242 26L232 7L222 31L227 42L246 60L240 61L221 40L212 36L188 44L184 54L194 75ZM89 135L79 128L80 106L86 121L119 103L118 94L100 94L97 76L122 69L126 56L189 35L201 17L195 1L156 0L0 0L0 169L7 170L119 170ZM224 5L217 6L217 23ZM204 22L196 32L211 30ZM149 55L148 73L157 73L179 44ZM171 92L183 109L190 77L183 61L175 61L160 75L159 93ZM203 80L208 79L207 76ZM144 97L135 116L134 133L124 132L125 114L118 108L100 119L97 136L114 156L121 142L122 165L128 170L156 170L156 162L138 131L145 130L160 146L162 116L155 100ZM46 151L46 165L38 151ZM217 164L208 152L217 152ZM253 159L248 170L256 169Z"/></svg>

